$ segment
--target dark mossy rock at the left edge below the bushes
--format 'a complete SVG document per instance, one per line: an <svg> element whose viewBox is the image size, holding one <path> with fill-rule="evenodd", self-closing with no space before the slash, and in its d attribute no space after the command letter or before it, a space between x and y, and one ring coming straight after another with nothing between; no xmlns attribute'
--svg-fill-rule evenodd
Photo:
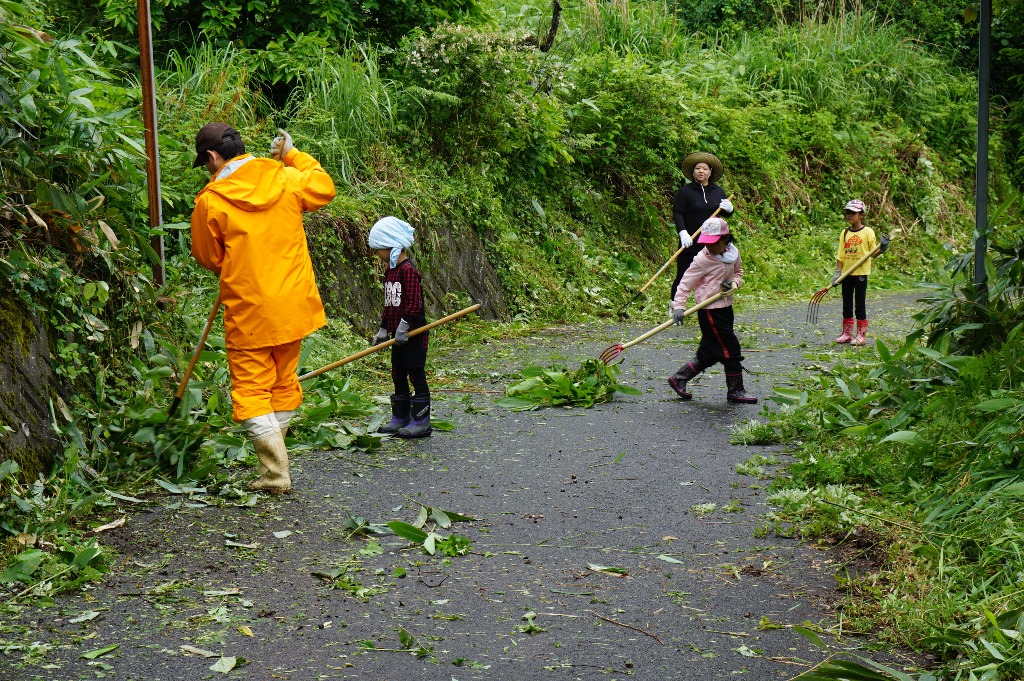
<svg viewBox="0 0 1024 681"><path fill-rule="evenodd" d="M45 325L0 287L0 462L16 462L25 480L48 473L59 451L50 426L55 384Z"/></svg>

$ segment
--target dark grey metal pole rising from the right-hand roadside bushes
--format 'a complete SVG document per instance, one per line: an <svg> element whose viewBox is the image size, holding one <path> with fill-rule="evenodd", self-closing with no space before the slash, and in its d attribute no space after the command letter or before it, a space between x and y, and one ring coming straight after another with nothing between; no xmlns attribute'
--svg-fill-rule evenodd
<svg viewBox="0 0 1024 681"><path fill-rule="evenodd" d="M981 0L978 16L978 159L974 181L974 284L988 298L988 89L991 81L992 0Z"/></svg>

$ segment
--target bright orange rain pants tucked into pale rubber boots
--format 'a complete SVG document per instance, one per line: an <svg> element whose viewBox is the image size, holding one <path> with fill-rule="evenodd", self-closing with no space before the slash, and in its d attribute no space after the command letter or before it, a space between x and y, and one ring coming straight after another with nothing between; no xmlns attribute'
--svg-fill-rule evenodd
<svg viewBox="0 0 1024 681"><path fill-rule="evenodd" d="M296 370L301 347L300 339L273 347L227 348L232 419L245 421L299 408L302 386Z"/></svg>

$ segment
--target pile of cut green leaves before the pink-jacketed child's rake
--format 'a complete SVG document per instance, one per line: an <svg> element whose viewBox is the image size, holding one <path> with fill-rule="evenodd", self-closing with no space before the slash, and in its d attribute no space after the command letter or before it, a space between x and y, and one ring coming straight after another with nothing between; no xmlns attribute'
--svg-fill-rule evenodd
<svg viewBox="0 0 1024 681"><path fill-rule="evenodd" d="M611 401L616 392L640 394L636 388L618 382L618 367L609 367L600 359L585 359L574 372L552 365L548 369L527 367L522 375L525 380L506 390L506 396L496 399L496 405L513 412L529 412L541 407L589 409L597 402Z"/></svg>

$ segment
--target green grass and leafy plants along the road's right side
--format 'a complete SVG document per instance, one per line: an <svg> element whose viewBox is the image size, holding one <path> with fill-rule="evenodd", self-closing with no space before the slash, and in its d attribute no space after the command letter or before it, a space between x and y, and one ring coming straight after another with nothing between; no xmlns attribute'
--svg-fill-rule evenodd
<svg viewBox="0 0 1024 681"><path fill-rule="evenodd" d="M920 679L1024 675L1024 224L996 212L987 294L970 260L921 328L778 390L768 424L799 439L768 529L850 546L838 578L850 631L943 661ZM864 673L867 673L866 671ZM846 678L841 668L819 676ZM890 676L856 678L891 678Z"/></svg>

